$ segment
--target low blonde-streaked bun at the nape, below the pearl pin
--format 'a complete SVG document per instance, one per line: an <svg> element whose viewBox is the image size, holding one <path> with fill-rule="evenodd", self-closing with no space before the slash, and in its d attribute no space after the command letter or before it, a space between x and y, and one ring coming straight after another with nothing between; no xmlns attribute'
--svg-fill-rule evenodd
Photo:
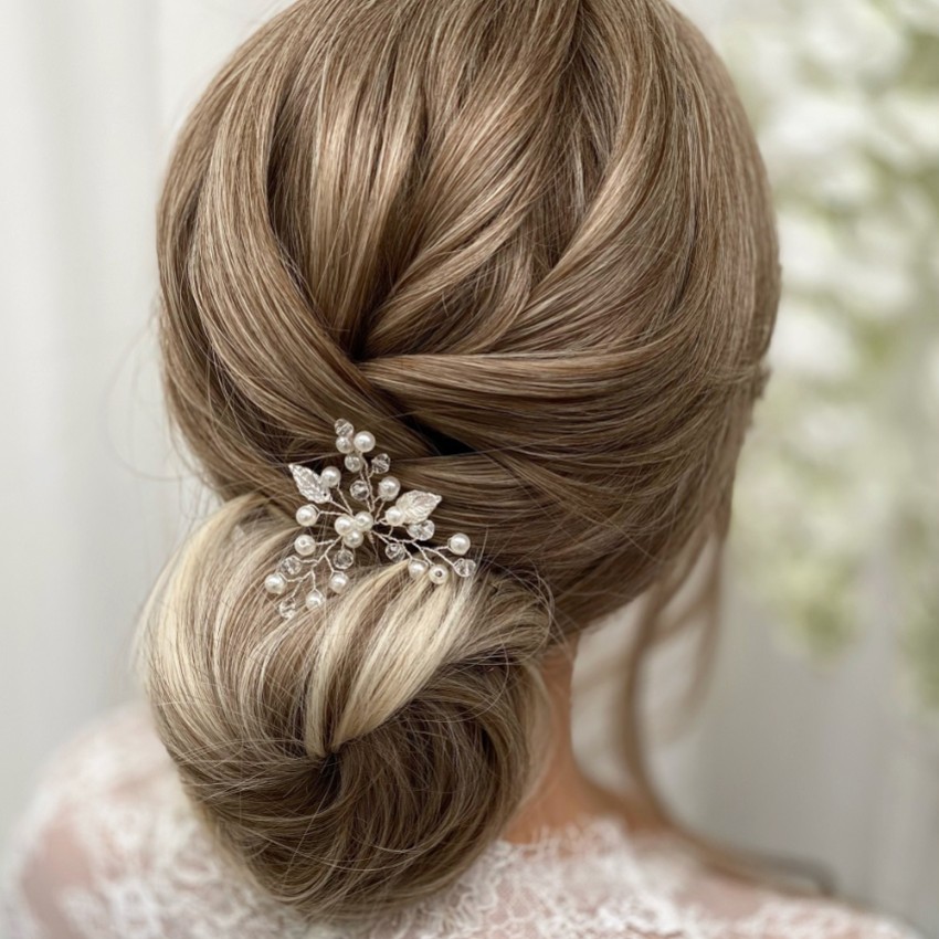
<svg viewBox="0 0 939 939"><path fill-rule="evenodd" d="M550 613L402 562L283 621L259 583L284 540L250 497L190 539L148 612L148 693L218 841L304 915L358 919L446 885L520 804Z"/></svg>

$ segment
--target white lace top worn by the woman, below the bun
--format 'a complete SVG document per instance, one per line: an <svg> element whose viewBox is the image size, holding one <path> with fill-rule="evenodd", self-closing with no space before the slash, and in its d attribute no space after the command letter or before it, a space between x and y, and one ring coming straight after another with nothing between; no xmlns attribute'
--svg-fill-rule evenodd
<svg viewBox="0 0 939 939"><path fill-rule="evenodd" d="M213 852L146 713L52 762L12 845L7 939L916 939L895 922L709 873L615 816L498 841L443 896L378 928L310 927Z"/></svg>

